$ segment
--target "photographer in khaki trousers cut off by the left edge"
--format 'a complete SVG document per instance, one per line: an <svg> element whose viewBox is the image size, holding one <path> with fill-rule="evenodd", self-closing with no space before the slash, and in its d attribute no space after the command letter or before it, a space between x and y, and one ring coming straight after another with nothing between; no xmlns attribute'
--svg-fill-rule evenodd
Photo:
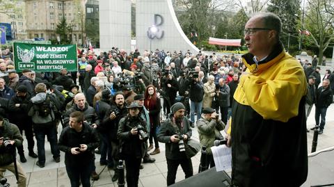
<svg viewBox="0 0 334 187"><path fill-rule="evenodd" d="M10 170L18 175L18 187L26 186L26 174L15 159L15 147L22 146L22 142L22 135L16 125L8 122L3 118L3 114L0 114L0 178L3 178L3 172Z"/></svg>

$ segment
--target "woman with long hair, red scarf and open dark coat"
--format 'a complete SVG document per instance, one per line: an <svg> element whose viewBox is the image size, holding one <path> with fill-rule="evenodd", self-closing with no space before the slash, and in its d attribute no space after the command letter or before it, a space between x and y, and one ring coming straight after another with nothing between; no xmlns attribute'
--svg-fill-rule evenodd
<svg viewBox="0 0 334 187"><path fill-rule="evenodd" d="M148 152L153 149L153 139L154 139L154 151L151 155L159 154L159 143L157 138L157 127L160 125L160 98L157 97L157 92L154 86L149 85L145 90L145 108L148 110L150 115L150 147L148 147Z"/></svg>

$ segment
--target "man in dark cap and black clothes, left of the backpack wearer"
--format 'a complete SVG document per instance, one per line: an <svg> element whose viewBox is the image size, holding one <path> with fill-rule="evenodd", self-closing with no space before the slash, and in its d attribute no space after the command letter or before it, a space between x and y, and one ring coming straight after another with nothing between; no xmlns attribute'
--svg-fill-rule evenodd
<svg viewBox="0 0 334 187"><path fill-rule="evenodd" d="M19 127L19 132L26 135L26 140L28 142L29 156L37 158L37 154L33 152L33 146L35 142L33 140L33 122L31 122L31 117L28 116L28 104L31 99L31 95L26 90L26 86L21 85L16 89L16 94L9 101L9 111L10 111L10 122L16 124ZM26 162L24 156L23 145L17 146L17 152L19 153L19 160L22 163Z"/></svg>

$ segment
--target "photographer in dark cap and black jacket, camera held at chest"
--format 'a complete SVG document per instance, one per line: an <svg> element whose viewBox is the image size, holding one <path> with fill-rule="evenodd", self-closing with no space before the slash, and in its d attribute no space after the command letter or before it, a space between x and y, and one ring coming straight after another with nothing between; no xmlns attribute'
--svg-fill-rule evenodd
<svg viewBox="0 0 334 187"><path fill-rule="evenodd" d="M127 170L127 186L138 186L141 158L145 155L148 133L146 122L142 120L140 113L143 106L132 102L127 106L129 115L120 120L117 136L121 141L120 154L125 160Z"/></svg>

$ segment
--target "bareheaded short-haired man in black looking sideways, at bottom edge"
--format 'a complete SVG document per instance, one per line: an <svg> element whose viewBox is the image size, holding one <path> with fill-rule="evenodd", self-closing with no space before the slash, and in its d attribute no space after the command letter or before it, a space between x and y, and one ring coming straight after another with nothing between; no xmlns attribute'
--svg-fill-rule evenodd
<svg viewBox="0 0 334 187"><path fill-rule="evenodd" d="M93 171L94 149L100 141L96 131L84 122L84 113L74 111L70 114L69 126L59 137L59 149L65 152L65 166L71 186L90 186L90 174Z"/></svg>

